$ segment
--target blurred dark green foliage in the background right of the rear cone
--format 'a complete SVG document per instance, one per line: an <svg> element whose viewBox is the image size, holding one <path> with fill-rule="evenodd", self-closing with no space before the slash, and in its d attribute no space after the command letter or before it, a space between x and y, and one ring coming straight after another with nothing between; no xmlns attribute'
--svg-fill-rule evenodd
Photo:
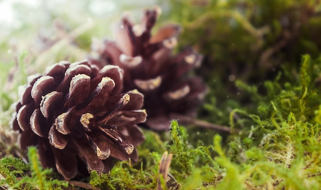
<svg viewBox="0 0 321 190"><path fill-rule="evenodd" d="M166 1L163 19L183 26L179 48L194 46L204 54L210 92L199 116L228 124L231 110L255 113L259 96L268 95L267 80L283 85L298 76L300 58L317 58L321 50L321 3L315 0ZM168 17L170 19L168 19Z"/></svg>

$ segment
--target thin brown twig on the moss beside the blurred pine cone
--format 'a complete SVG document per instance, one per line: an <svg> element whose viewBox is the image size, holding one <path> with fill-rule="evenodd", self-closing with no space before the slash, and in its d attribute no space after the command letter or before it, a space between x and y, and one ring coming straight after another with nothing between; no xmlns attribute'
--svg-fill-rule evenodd
<svg viewBox="0 0 321 190"><path fill-rule="evenodd" d="M229 128L228 126L223 126L223 125L219 125L219 124L214 124L214 123L210 123L207 121L203 121L203 120L199 120L199 119L195 119L193 117L190 116L185 116L185 115L174 115L173 118L178 119L178 122L182 122L184 124L193 124L196 126L199 126L200 128L203 129L212 129L215 131L219 131L219 132L225 132L225 133L234 133L237 132L237 130L233 130L231 128Z"/></svg>

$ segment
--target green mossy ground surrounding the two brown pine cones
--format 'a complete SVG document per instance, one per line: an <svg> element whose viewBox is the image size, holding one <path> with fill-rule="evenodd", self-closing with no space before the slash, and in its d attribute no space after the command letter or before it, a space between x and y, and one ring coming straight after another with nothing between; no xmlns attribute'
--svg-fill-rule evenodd
<svg viewBox="0 0 321 190"><path fill-rule="evenodd" d="M209 87L198 119L229 126L233 133L183 127L174 120L169 122L169 133L144 130L139 162L118 162L109 174L92 172L69 185L40 166L34 148L29 149L26 164L9 128L17 87L28 74L42 73L58 60L85 58L91 38L107 35L110 29L103 17L80 22L88 20L90 13L74 18L55 10L46 19L65 15L58 22L65 28L54 31L51 25L43 26L51 28L52 36L38 41L41 46L31 43L39 31L30 22L1 39L2 188L154 189L160 159L168 151L173 154L171 177L160 178L163 188L320 189L321 2L158 3L167 7L158 25L172 20L183 26L177 49L191 45L205 56L203 66L195 71ZM6 40L14 38L21 41Z"/></svg>

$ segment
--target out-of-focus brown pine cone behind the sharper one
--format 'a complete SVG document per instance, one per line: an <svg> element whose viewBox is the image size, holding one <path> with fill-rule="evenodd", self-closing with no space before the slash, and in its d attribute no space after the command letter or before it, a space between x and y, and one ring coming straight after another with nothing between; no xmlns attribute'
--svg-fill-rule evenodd
<svg viewBox="0 0 321 190"><path fill-rule="evenodd" d="M188 77L202 56L191 48L172 56L180 27L167 25L155 35L157 9L146 10L141 23L124 17L115 27L115 41L93 41L89 58L98 67L116 65L124 69L124 90L138 89L144 94L148 117L145 125L153 130L168 130L169 121L178 115L195 116L206 87L199 77Z"/></svg>

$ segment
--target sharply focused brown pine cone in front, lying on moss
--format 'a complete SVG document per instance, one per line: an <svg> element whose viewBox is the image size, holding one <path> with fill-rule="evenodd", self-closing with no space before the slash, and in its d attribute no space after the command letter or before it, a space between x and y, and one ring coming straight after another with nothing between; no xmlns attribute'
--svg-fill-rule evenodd
<svg viewBox="0 0 321 190"><path fill-rule="evenodd" d="M136 125L146 120L139 110L144 97L122 94L119 67L61 61L29 76L18 90L12 129L19 131L21 149L37 145L44 167L56 167L68 180L92 170L108 172L111 157L137 160L134 146L145 140Z"/></svg>

